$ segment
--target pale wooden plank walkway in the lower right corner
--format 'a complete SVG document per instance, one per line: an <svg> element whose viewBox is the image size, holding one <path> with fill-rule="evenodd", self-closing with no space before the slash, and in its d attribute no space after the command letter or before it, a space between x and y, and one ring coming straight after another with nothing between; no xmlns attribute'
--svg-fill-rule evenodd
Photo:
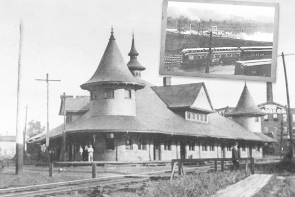
<svg viewBox="0 0 295 197"><path fill-rule="evenodd" d="M272 174L252 174L225 189L219 190L212 197L252 197L263 188Z"/></svg>

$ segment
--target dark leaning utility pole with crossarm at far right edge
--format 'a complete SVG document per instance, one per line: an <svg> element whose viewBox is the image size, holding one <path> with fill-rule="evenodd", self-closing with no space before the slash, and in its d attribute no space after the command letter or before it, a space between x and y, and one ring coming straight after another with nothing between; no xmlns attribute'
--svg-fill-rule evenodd
<svg viewBox="0 0 295 197"><path fill-rule="evenodd" d="M291 113L291 107L290 107L290 99L289 99L289 88L288 88L288 79L287 79L287 70L285 65L285 56L294 55L294 54L286 54L284 55L284 52L282 52L283 58L283 66L284 66L284 72L285 72L285 82L286 82L286 94L287 94L287 114L288 114L288 125L289 125L289 135L290 135L290 146L289 151L291 153L291 159L294 159L294 144L293 144L293 126L292 126L292 113Z"/></svg>

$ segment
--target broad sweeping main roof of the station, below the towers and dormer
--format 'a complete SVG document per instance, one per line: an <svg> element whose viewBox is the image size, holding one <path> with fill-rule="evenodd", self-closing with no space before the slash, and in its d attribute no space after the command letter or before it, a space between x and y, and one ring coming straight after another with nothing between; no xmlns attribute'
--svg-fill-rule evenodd
<svg viewBox="0 0 295 197"><path fill-rule="evenodd" d="M184 89L198 87L200 84L181 85ZM202 84L201 84L202 85ZM178 87L177 87L178 88ZM156 94L153 88L138 90L136 94L137 115L134 116L91 116L89 112L72 123L66 124L66 132L157 132L174 135L198 137L217 137L226 139L242 139L264 141L236 122L216 113L208 115L208 123L185 120L174 113L167 104ZM170 89L164 89L167 94ZM163 93L164 94L164 93ZM175 95L174 97L177 97ZM189 103L189 102L187 102ZM62 135L62 125L50 131L50 137ZM32 137L30 142L45 139L45 133Z"/></svg>

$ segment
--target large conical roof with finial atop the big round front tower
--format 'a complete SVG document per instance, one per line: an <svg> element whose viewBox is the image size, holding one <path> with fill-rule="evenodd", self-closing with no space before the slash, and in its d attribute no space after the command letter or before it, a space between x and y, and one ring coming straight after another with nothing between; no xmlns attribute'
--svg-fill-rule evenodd
<svg viewBox="0 0 295 197"><path fill-rule="evenodd" d="M145 84L136 79L128 70L113 34L93 76L80 87L91 91L97 85L121 85L142 89Z"/></svg>

